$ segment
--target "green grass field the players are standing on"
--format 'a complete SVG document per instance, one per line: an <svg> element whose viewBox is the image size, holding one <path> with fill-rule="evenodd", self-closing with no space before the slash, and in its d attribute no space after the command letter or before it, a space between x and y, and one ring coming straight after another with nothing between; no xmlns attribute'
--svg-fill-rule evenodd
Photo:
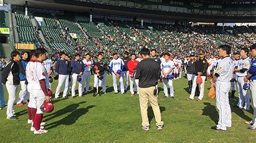
<svg viewBox="0 0 256 143"><path fill-rule="evenodd" d="M57 81L52 84L55 92ZM93 85L93 78L90 86ZM159 84L159 104L164 129L157 131L154 114L149 105L148 116L151 129L145 132L141 128L139 98L126 95L114 95L112 78L108 76L108 90L102 97L54 99L55 110L45 113L47 122L45 135L34 135L27 124L26 106L14 106L21 115L18 120L7 120L6 109L0 110L1 142L256 142L256 131L247 129L244 122L252 118L249 112L233 108L232 127L228 131L213 131L218 112L216 101L207 97L209 81L205 86L203 101L187 101L187 79L174 80L175 99L164 98L162 84ZM237 93L236 93L237 96ZM5 89L7 102L7 92Z"/></svg>

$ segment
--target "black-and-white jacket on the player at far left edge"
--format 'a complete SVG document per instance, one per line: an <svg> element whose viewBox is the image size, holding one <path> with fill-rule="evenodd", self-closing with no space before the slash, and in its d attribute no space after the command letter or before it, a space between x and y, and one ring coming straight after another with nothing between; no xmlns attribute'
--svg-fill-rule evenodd
<svg viewBox="0 0 256 143"><path fill-rule="evenodd" d="M10 73L10 74L9 74ZM2 83L19 85L19 64L11 60L2 71Z"/></svg>

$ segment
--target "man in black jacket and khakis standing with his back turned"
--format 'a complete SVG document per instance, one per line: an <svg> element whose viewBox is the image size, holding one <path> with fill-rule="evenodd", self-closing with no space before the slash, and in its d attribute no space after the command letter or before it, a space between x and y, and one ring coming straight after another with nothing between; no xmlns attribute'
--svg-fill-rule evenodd
<svg viewBox="0 0 256 143"><path fill-rule="evenodd" d="M160 108L158 105L157 89L158 79L160 79L160 64L150 59L150 50L141 49L143 60L136 68L135 79L139 80L139 105L141 106L142 129L150 130L147 116L147 103L150 101L152 110L154 111L156 126L158 130L163 129Z"/></svg>

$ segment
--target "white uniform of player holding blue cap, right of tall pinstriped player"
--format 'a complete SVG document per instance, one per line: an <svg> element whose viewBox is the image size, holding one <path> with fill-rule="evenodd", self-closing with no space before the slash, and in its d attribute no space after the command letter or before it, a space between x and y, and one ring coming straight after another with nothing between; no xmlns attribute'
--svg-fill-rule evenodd
<svg viewBox="0 0 256 143"><path fill-rule="evenodd" d="M238 89L239 89L239 93L240 93L240 98L238 100L237 106L240 108L243 108L245 110L250 110L250 98L247 93L247 90L243 89L243 84L245 84L243 81L243 77L245 77L247 75L247 71L249 70L250 67L251 67L251 60L249 57L247 57L245 59L240 59L237 69L241 70L243 68L246 68L246 71L243 73L236 72L237 84L238 84ZM245 105L243 106L244 103L245 103Z"/></svg>

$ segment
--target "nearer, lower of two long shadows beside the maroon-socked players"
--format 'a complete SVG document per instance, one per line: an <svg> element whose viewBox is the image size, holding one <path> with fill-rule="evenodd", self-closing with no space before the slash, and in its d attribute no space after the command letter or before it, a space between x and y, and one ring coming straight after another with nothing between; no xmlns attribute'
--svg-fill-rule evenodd
<svg viewBox="0 0 256 143"><path fill-rule="evenodd" d="M59 125L72 125L74 123L76 123L76 120L78 120L82 115L85 115L86 112L89 111L89 109L95 107L95 105L90 105L86 108L81 108L81 109L76 109L74 111L71 112L71 114L69 114L68 116L65 116L65 118L60 119L56 122L53 122L51 124L47 124L46 127L47 129L51 129L51 128L55 128Z"/></svg>

